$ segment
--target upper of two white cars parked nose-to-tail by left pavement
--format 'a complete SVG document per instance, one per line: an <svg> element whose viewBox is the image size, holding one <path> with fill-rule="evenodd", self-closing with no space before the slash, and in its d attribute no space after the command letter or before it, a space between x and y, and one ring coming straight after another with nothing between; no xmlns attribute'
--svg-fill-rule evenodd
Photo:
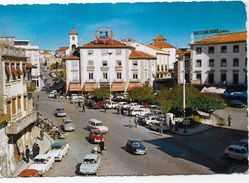
<svg viewBox="0 0 249 183"><path fill-rule="evenodd" d="M61 161L62 158L67 154L69 148L69 143L57 141L50 146L47 155L51 156L54 161Z"/></svg>

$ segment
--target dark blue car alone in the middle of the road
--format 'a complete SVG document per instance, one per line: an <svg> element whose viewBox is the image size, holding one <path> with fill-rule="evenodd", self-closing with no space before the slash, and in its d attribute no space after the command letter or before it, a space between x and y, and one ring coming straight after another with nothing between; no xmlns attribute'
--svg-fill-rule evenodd
<svg viewBox="0 0 249 183"><path fill-rule="evenodd" d="M132 154L146 154L147 149L142 145L141 140L128 140L126 150Z"/></svg>

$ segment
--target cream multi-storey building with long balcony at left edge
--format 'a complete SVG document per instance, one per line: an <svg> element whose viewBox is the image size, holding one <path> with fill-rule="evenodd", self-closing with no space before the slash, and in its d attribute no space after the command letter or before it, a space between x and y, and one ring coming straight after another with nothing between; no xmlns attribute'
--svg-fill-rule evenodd
<svg viewBox="0 0 249 183"><path fill-rule="evenodd" d="M25 50L15 47L14 37L0 37L0 105L7 115L7 126L0 130L0 146L4 147L1 153L6 157L0 173L4 176L15 172L23 159L25 146L31 148L35 140L36 112L28 91L31 69Z"/></svg>

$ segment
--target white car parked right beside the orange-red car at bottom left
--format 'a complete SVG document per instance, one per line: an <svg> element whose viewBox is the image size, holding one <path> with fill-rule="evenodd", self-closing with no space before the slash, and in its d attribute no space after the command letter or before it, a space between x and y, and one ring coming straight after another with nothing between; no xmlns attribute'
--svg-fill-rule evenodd
<svg viewBox="0 0 249 183"><path fill-rule="evenodd" d="M53 158L48 154L38 154L28 169L36 169L40 175L45 175L52 168L53 163Z"/></svg>

